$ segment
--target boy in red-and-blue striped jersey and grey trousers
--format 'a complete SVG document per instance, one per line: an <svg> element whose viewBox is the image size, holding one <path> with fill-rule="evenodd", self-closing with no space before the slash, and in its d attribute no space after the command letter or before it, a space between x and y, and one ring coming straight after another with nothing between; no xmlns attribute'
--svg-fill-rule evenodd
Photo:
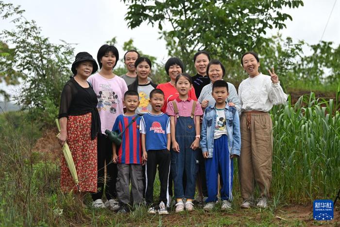
<svg viewBox="0 0 340 227"><path fill-rule="evenodd" d="M136 91L126 91L124 94L124 105L126 113L117 117L112 131L122 132L130 122L133 122L123 133L118 152L113 143L113 162L118 163L117 196L119 211L129 211L129 203L141 204L143 202L143 173L142 173L142 149L140 142L139 125L140 118L136 114L139 105L139 96ZM130 185L131 180L131 195ZM133 199L133 201L132 201Z"/></svg>

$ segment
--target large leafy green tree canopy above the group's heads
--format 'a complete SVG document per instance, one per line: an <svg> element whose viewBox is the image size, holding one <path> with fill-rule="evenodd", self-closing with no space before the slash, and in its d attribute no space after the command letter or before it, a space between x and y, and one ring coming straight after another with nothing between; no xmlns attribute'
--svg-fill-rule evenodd
<svg viewBox="0 0 340 227"><path fill-rule="evenodd" d="M191 66L192 54L209 51L214 58L239 58L270 41L267 29L286 27L292 19L283 7L297 8L302 0L123 0L128 5L125 19L130 28L142 22L158 29L167 41L169 55ZM170 30L163 29L170 24ZM268 30L267 30L268 31Z"/></svg>

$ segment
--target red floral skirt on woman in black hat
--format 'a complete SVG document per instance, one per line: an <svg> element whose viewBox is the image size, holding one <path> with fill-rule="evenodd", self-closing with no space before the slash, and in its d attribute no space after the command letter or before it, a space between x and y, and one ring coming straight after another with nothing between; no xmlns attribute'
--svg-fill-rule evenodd
<svg viewBox="0 0 340 227"><path fill-rule="evenodd" d="M68 146L77 170L81 192L97 192L97 138L91 140L91 113L69 116ZM78 190L64 155L61 158L60 186L63 192Z"/></svg>

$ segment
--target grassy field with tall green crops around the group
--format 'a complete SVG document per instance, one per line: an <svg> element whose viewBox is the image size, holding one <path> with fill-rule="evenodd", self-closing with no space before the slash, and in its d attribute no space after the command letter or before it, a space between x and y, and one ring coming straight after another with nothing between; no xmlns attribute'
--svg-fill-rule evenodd
<svg viewBox="0 0 340 227"><path fill-rule="evenodd" d="M268 209L239 209L235 171L233 210L168 216L149 215L146 208L128 214L82 209L72 194L59 189L55 129L43 129L29 111L0 115L0 226L311 226L340 225L340 201L331 222L312 217L314 199L334 200L340 188L340 103L301 97L296 104L272 109L272 199ZM237 162L235 162L237 165ZM235 170L237 168L235 167ZM155 192L159 183L155 184ZM157 197L157 193L156 196ZM87 195L86 204L91 199Z"/></svg>

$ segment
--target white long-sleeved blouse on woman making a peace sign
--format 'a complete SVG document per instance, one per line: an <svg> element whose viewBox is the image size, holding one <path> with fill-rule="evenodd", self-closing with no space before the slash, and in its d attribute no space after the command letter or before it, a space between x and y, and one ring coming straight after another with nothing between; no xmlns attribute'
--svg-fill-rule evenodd
<svg viewBox="0 0 340 227"><path fill-rule="evenodd" d="M238 97L242 112L252 110L269 112L273 105L285 104L288 95L283 92L280 82L273 84L270 76L260 73L240 83Z"/></svg>

